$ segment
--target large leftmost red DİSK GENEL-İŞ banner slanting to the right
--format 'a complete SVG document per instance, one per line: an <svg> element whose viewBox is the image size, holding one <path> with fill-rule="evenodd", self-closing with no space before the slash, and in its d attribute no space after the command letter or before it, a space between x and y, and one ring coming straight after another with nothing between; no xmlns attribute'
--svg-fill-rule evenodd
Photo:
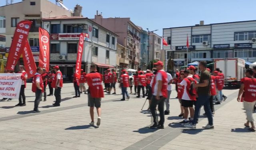
<svg viewBox="0 0 256 150"><path fill-rule="evenodd" d="M28 38L31 24L32 21L28 20L22 20L17 24L14 36L12 38L6 70L14 70L15 65L18 63L20 55L22 54L22 50L25 46L26 39Z"/></svg>

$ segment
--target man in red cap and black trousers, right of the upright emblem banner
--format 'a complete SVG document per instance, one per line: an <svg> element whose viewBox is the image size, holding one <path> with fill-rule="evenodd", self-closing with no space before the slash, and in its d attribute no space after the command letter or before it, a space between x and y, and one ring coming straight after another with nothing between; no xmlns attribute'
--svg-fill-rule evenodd
<svg viewBox="0 0 256 150"><path fill-rule="evenodd" d="M53 104L54 107L56 106L60 106L60 102L61 102L61 88L63 86L63 77L62 77L62 73L60 72L60 68L59 66L54 66L54 71L55 73L55 77L54 77L54 96L55 96L55 103Z"/></svg>

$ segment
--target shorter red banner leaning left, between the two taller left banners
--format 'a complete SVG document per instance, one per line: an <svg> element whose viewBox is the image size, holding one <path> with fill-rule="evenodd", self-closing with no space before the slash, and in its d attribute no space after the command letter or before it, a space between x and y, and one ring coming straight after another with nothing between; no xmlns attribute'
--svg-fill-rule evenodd
<svg viewBox="0 0 256 150"><path fill-rule="evenodd" d="M28 43L28 39L26 40L25 47L23 48L22 52L24 67L28 74L28 78L32 78L36 73L36 63Z"/></svg>

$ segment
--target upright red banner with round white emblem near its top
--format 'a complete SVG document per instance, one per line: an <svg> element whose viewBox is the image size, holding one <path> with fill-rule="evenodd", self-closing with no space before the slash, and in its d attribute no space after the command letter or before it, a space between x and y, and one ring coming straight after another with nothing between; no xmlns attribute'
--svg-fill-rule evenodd
<svg viewBox="0 0 256 150"><path fill-rule="evenodd" d="M39 27L39 65L48 72L50 69L50 34L43 28Z"/></svg>

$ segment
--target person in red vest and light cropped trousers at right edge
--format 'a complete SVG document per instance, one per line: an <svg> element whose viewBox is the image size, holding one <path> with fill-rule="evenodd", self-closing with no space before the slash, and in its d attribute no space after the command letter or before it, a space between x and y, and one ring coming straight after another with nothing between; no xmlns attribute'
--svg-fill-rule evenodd
<svg viewBox="0 0 256 150"><path fill-rule="evenodd" d="M237 101L241 101L241 96L244 99L244 109L246 110L246 120L247 122L244 124L248 128L248 130L255 132L254 119L252 116L254 106L256 104L256 78L253 78L252 69L247 69L246 77L241 79L241 87L238 93Z"/></svg>

